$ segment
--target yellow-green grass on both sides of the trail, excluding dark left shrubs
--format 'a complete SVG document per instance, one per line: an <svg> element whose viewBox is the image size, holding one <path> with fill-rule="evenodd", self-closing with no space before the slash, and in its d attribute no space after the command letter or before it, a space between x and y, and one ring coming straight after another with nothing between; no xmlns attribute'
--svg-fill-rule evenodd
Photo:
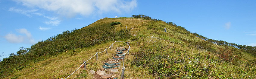
<svg viewBox="0 0 256 79"><path fill-rule="evenodd" d="M163 21L106 18L82 29L111 22L121 23L113 25L115 38L90 47L64 50L58 55L42 56L39 61L30 61L24 69L17 69L10 75L5 75L5 78L65 78L95 52L103 51L114 41L124 40L132 40L130 55L126 55L125 60L126 79L256 78L255 56L234 47L209 43L181 27L171 26ZM167 28L166 33L163 28ZM126 46L126 43L117 43L113 47L120 46ZM99 54L98 61L92 58L87 63L87 70L80 68L70 78L92 79L93 75L89 74L89 70L101 69L103 61L115 53L114 50L108 52L108 55Z"/></svg>

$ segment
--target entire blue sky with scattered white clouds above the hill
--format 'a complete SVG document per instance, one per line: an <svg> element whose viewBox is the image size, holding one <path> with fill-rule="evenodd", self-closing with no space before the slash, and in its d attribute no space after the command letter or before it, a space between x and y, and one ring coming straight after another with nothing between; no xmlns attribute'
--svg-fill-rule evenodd
<svg viewBox="0 0 256 79"><path fill-rule="evenodd" d="M256 46L255 0L0 0L0 57L98 19L144 14L190 32Z"/></svg>

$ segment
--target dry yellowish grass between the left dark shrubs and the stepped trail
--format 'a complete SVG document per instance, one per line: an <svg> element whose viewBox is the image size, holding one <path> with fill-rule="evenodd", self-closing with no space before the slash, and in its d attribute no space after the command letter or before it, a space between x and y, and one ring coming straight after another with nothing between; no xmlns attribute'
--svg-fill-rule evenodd
<svg viewBox="0 0 256 79"><path fill-rule="evenodd" d="M113 43L113 42L112 42ZM21 71L15 72L12 75L6 77L5 79L18 76L20 79L53 79L53 78L64 78L64 76L70 75L74 72L85 60L88 60L96 52L101 52L108 48L111 43L96 45L89 48L76 49L78 53L76 55L71 56L67 55L67 52L58 55L57 57L48 58L45 61L41 61L39 63L33 63L29 68L25 68ZM79 52L81 51L81 52ZM108 49L108 55L106 52L102 52L98 54L98 61L96 61L96 56L91 60L87 61L87 70L86 70L86 78L92 79L93 75L88 74L90 69L97 71L102 68L103 61L106 61L108 57L114 54L114 50ZM73 75L69 78L77 78L78 75L82 72L83 68L78 69Z"/></svg>

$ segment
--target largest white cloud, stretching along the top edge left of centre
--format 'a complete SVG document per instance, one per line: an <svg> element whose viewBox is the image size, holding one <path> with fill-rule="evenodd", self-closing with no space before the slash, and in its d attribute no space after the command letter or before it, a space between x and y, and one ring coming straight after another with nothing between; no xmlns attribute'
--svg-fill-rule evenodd
<svg viewBox="0 0 256 79"><path fill-rule="evenodd" d="M72 17L89 16L106 12L124 13L137 7L137 1L125 0L17 0L27 7L38 7L57 14Z"/></svg>

